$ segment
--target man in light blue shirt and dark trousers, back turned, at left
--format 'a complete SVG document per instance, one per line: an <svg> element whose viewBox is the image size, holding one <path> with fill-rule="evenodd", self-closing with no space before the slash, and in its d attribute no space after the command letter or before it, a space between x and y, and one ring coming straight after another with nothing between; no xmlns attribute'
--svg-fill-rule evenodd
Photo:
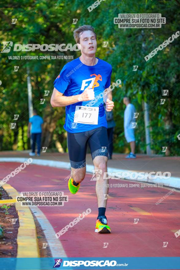
<svg viewBox="0 0 180 270"><path fill-rule="evenodd" d="M31 138L32 138L32 152L29 153L29 156L35 156L35 145L37 144L37 156L40 156L40 147L41 147L41 135L42 135L42 125L43 118L37 115L36 109L33 110L33 117L29 118L28 124L28 138L30 137L30 128L31 129Z"/></svg>

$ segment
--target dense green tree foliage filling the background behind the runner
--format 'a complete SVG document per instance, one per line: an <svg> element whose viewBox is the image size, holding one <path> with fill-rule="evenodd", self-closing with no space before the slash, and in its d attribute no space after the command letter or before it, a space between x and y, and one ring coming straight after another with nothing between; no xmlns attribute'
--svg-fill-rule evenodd
<svg viewBox="0 0 180 270"><path fill-rule="evenodd" d="M2 17L0 22L3 29L0 33L2 41L13 41L18 44L75 44L73 30L80 25L90 24L97 33L97 56L108 61L113 67L112 82L121 79L121 87L113 90L115 102L114 118L116 121L114 151L124 152L128 144L124 139L123 96L130 95L132 103L139 112L136 130L137 151L146 151L144 108L147 102L150 111L151 148L155 153L168 146L171 155L177 155L180 150L177 135L179 130L180 92L179 81L179 39L175 39L166 48L159 51L149 61L144 56L158 47L173 33L178 31L179 13L176 1L120 1L101 2L93 11L87 7L92 1L59 0L59 1L6 1L1 5ZM113 24L113 18L118 13L161 13L166 17L166 25L160 29L120 29ZM17 24L11 24L11 18L17 18ZM76 25L72 18L78 18ZM109 47L103 48L102 41L108 41ZM29 65L33 91L33 106L44 118L47 129L44 133L57 134L57 138L66 151L66 132L63 129L64 108L52 109L50 96L53 81L59 74L66 60L9 60L13 55L73 55L80 52L13 52L1 54L0 86L0 150L23 150L30 148L27 138L29 119L27 98L27 71ZM138 70L133 71L133 65ZM19 66L17 72L13 67ZM162 98L161 90L169 89L169 98L164 105L159 105ZM44 91L49 90L49 96L43 105L40 98L44 98ZM13 120L14 114L19 114L18 120ZM17 122L17 129L10 129L9 123ZM52 126L54 127L52 129ZM53 131L52 131L53 130ZM53 136L48 141L49 148L55 148Z"/></svg>

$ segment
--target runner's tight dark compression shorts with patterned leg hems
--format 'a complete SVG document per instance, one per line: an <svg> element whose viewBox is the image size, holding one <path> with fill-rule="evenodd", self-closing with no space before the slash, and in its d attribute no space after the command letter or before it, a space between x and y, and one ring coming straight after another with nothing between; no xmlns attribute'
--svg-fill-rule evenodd
<svg viewBox="0 0 180 270"><path fill-rule="evenodd" d="M86 166L86 150L89 145L92 159L96 156L108 156L108 136L105 127L99 127L85 132L67 132L67 146L72 168Z"/></svg>

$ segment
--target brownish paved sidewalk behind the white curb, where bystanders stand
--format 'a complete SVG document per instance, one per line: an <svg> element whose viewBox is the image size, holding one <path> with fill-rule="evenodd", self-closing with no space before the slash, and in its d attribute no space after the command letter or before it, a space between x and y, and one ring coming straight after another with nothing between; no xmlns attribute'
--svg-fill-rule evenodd
<svg viewBox="0 0 180 270"><path fill-rule="evenodd" d="M131 170L135 172L170 172L173 177L180 177L180 156L163 157L163 156L147 156L137 154L136 159L125 159L126 154L114 154L113 160L108 160L108 167L118 168L121 170ZM2 151L0 158L6 157L24 157L29 158L28 151ZM33 159L55 160L69 162L68 153L41 153L40 157ZM86 155L87 165L93 165L90 154Z"/></svg>

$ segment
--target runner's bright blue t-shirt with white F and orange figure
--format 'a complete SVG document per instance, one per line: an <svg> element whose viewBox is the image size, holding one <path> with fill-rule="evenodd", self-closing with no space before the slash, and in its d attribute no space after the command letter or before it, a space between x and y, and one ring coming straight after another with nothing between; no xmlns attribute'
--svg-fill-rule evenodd
<svg viewBox="0 0 180 270"><path fill-rule="evenodd" d="M97 57L96 57L97 58ZM106 115L103 102L103 91L111 84L112 66L98 58L94 66L83 64L79 58L67 63L54 81L54 87L65 96L82 94L91 84L95 99L92 101L77 102L66 106L66 119L64 129L70 133L79 133L101 126L107 128ZM93 83L93 84L92 84ZM88 104L88 105L87 105ZM74 122L76 106L99 107L98 123L83 124ZM93 109L91 109L93 110ZM85 114L86 116L86 114ZM87 119L87 118L86 118ZM87 122L87 121L86 121Z"/></svg>

